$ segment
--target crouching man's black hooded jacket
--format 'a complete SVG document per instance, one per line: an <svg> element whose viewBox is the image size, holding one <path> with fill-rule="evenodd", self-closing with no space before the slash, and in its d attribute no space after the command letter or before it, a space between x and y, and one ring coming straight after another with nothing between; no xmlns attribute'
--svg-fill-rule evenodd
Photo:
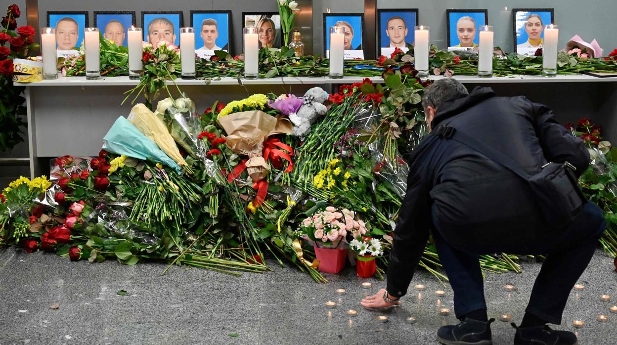
<svg viewBox="0 0 617 345"><path fill-rule="evenodd" d="M475 88L468 96L444 102L433 119L431 128L448 124L464 131L487 146L506 154L529 173L539 172L547 162L569 162L581 175L589 165L589 152L581 139L569 133L555 121L548 107L530 102L524 97L495 97L491 88ZM478 217L501 217L502 225L513 224L520 229L536 231L540 215L526 182L507 168L457 141L429 135L413 150L409 159L410 174L407 194L400 209L394 231L394 244L387 271L387 291L392 296L403 296L412 280L418 262L433 228L431 212L439 223L480 224L488 229L473 243L484 244L492 252L507 250L515 242L516 231L489 227L482 219L457 219L457 207L448 209L440 204L443 193L455 191L457 186L470 188L478 185L475 200L466 200L461 208L480 210ZM490 187L487 188L487 183ZM491 184L492 183L492 184ZM451 207L452 208L452 207ZM445 215L449 218L444 220ZM479 226L479 227L482 227ZM486 227L485 227L486 228ZM439 227L441 230L441 227ZM486 230L486 229L485 229ZM475 236L473 231L454 231L444 239L457 247L458 239ZM444 235L440 231L440 235ZM519 236L520 237L520 236ZM524 236L523 236L524 237ZM524 238L522 240L525 240ZM527 239L529 240L529 239ZM499 243L504 246L499 246ZM460 244L465 250L465 245Z"/></svg>

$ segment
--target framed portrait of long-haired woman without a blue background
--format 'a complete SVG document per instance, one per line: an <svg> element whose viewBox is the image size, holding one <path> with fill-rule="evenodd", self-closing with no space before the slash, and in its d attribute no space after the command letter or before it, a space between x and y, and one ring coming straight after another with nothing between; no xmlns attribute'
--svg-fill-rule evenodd
<svg viewBox="0 0 617 345"><path fill-rule="evenodd" d="M278 12L242 12L244 28L257 28L259 48L281 48L283 31L281 31L281 15Z"/></svg>

